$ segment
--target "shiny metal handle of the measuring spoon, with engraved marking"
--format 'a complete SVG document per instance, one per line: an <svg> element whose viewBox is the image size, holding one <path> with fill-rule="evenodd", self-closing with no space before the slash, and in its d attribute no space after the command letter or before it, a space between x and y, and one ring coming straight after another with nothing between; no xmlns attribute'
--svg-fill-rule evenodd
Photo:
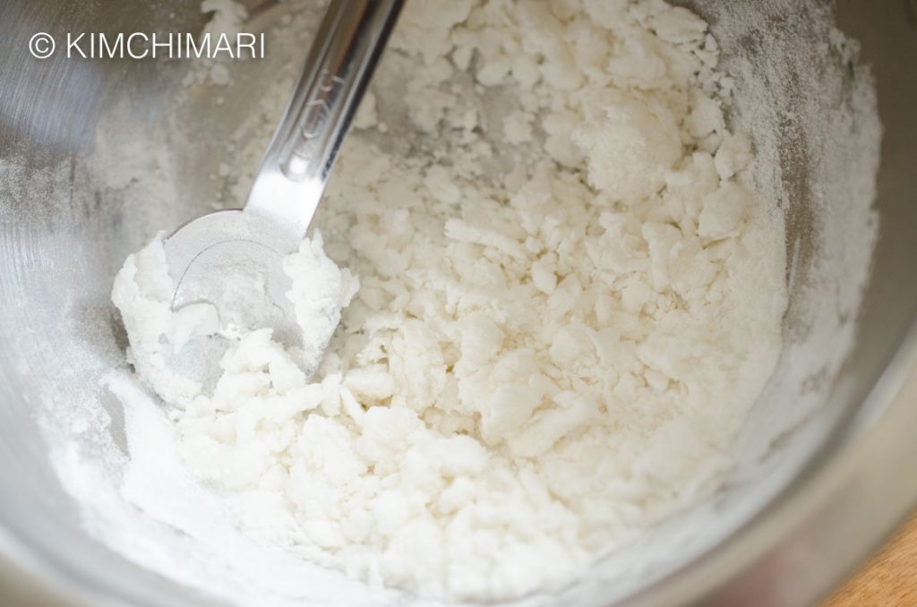
<svg viewBox="0 0 917 607"><path fill-rule="evenodd" d="M302 237L403 0L331 0L245 204Z"/></svg>

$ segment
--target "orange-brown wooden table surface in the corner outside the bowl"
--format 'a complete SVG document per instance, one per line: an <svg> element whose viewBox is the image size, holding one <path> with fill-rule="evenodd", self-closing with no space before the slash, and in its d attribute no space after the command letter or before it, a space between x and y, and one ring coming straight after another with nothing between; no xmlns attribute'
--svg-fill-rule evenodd
<svg viewBox="0 0 917 607"><path fill-rule="evenodd" d="M917 607L917 514L822 607Z"/></svg>

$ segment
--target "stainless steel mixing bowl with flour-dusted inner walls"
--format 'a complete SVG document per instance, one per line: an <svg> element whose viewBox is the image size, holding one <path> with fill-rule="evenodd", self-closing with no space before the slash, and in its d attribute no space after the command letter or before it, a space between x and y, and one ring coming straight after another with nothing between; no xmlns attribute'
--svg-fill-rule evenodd
<svg viewBox="0 0 917 607"><path fill-rule="evenodd" d="M194 4L6 0L0 7L4 604L220 604L99 541L98 521L95 528L87 523L52 465L52 455L60 457L61 448L64 455L72 448L92 458L98 438L94 433L118 440L119 413L113 403L101 396L94 401L99 427L86 423L91 410L74 417L69 409L85 406L84 397L98 392L99 375L123 364L123 339L108 293L118 262L140 244L140 231L133 224L128 229L126 217L142 213L153 222L159 216L149 208L155 201L133 206L120 201L115 186L87 173L85 159L100 152L120 153L117 136L105 142L97 137L99 125L115 111L128 116L131 130L123 134L125 140L138 134L153 138L165 122L181 121L182 116L171 116L169 103L180 68L157 61L82 61L58 55L38 60L28 54L29 40L41 31L58 39L67 31L196 31L203 17ZM272 4L266 0L260 11L270 12ZM851 213L852 207L830 198L863 207L867 201L857 199L871 195L870 187L856 189L862 180L848 180L851 173L869 170L866 151L857 147L868 140L861 132L865 118L844 119L845 104L856 94L856 64L835 49L826 55L836 63L834 80L829 82L827 71L823 79L807 79L801 77L805 64L822 60L806 53L819 45L827 48L823 43L829 40L809 40L809 47L796 47L801 56L795 57L791 45L780 47L793 36L797 42L804 39L809 21L825 17L824 4L684 4L711 20L727 58L782 49L769 63L727 59L728 69L745 69L746 80L759 86L779 84L772 81L774 74L790 81L794 74L798 78L788 84L796 95L769 108L778 118L772 122L774 131L753 133L770 137L785 185L781 204L788 215L788 248L795 264L788 276L792 301L785 334L788 343L807 344L816 358L831 359L836 343L811 339L816 325L831 316L838 326L856 329L854 347L838 369L825 367L821 375L798 377L788 347L740 437L739 450L750 448L750 438L768 415L792 421L779 434L768 434L767 445L758 446L759 461L747 468L753 473L731 479L704 512L676 517L647 535L643 546L611 557L582 583L543 597L547 603L808 604L849 573L917 502L917 9L912 0L838 0L834 5L838 27L862 44L858 62L871 66L875 75L878 114L885 127L875 201L878 240L862 303L848 310L837 304L835 295L858 289L856 272L817 292L808 289L808 281L819 278L819 264L837 260L828 258L867 259L870 253L861 240L845 240L844 230L826 227L834 222L857 234L862 226L845 222L862 222L867 215ZM741 25L746 17L744 29L719 25L730 20ZM307 46L301 44L303 50ZM196 116L211 120L209 127L217 132L212 141L202 143L214 158L221 149L220 128L228 132L227 124L250 110L260 90L253 83L271 75L249 72L250 80L236 90L238 100L227 103L223 113ZM829 84L836 90L825 93L822 89ZM834 149L814 145L809 131L816 127L804 120L799 124L812 116L823 117L817 128L828 137L818 140ZM835 154L838 149L844 153ZM189 199L202 200L197 196L204 191L200 175L213 171L212 161L207 154L193 157L188 150L176 154L187 164L176 179L183 180ZM132 161L147 160L141 154ZM190 205L170 208L159 218L165 226L201 210ZM830 337L831 331L825 335ZM818 406L804 408L803 397ZM49 427L71 436L70 447L52 444ZM663 546L657 552L668 554L646 557L652 546ZM633 566L635 561L640 568ZM614 570L632 573L630 582L615 578Z"/></svg>

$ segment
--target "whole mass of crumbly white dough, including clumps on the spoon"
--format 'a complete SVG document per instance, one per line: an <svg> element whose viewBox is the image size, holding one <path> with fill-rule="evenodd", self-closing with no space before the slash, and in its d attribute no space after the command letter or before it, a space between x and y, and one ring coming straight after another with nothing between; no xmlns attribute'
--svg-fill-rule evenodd
<svg viewBox="0 0 917 607"><path fill-rule="evenodd" d="M362 108L324 247L288 264L329 293L331 330L343 308L314 376L257 327L213 393L149 372L215 322L163 312L158 242L115 301L185 465L247 534L372 583L510 599L717 488L779 353L782 217L742 178L733 83L685 9L414 0L392 46L411 126L441 145L380 149ZM499 113L482 101L506 91Z"/></svg>

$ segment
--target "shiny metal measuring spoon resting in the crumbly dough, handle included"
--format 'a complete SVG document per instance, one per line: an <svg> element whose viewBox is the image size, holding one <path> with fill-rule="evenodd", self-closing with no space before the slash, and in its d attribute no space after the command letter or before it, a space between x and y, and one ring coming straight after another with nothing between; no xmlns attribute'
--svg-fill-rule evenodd
<svg viewBox="0 0 917 607"><path fill-rule="evenodd" d="M166 239L173 310L213 303L221 325L271 327L285 346L302 343L282 259L298 248L315 215L402 6L403 0L331 1L245 207L193 219ZM169 364L212 385L226 346L220 337L194 339Z"/></svg>

